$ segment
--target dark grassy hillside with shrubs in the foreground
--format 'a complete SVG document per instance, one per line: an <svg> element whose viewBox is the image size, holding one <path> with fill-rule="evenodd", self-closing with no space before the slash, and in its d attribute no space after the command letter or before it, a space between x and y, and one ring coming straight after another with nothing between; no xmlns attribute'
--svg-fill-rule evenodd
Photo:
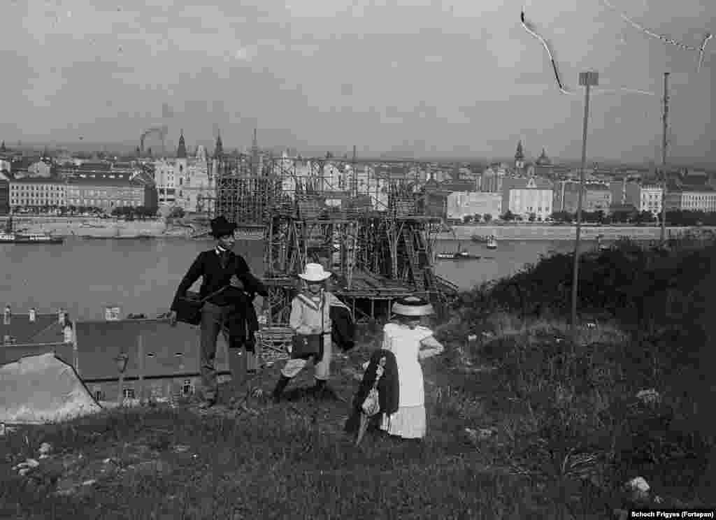
<svg viewBox="0 0 716 520"><path fill-rule="evenodd" d="M309 371L291 401L266 402L256 389L271 390L274 367L226 388L227 406L206 415L109 411L0 437L0 516L604 519L637 500L622 489L636 476L652 486L648 503L712 503L714 257L624 245L587 258L591 315L576 342L563 317L569 256L465 293L436 328L446 353L425 362L422 446L377 433L354 446L347 403L296 391ZM346 401L377 330L334 362ZM651 388L658 399L636 397ZM17 476L42 442L54 454Z"/></svg>

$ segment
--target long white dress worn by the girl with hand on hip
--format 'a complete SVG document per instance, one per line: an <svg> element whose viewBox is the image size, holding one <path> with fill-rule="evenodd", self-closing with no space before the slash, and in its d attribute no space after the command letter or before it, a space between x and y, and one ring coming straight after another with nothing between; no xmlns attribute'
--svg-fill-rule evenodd
<svg viewBox="0 0 716 520"><path fill-rule="evenodd" d="M423 438L427 431L425 419L425 388L420 366L420 341L429 338L432 330L410 328L387 323L383 328L383 348L395 354L400 395L398 411L383 414L380 429L402 438Z"/></svg>

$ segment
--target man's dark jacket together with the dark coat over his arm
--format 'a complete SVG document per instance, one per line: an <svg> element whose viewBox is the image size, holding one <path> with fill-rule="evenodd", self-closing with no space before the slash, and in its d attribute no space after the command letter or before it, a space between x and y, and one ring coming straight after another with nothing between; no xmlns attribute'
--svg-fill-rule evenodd
<svg viewBox="0 0 716 520"><path fill-rule="evenodd" d="M233 275L241 280L243 289L231 287ZM216 250L203 251L199 253L181 280L171 310L176 310L178 300L186 295L191 285L200 277L203 280L201 280L199 298L205 298L216 290L228 286L218 295L209 298L208 302L222 307L233 306L233 312L227 320L230 346L238 348L243 345L247 350L253 350L256 341L253 333L258 330L258 319L256 318L256 309L253 307L253 299L257 294L269 295L261 280L251 274L246 260L241 255L236 255L231 251L221 257Z"/></svg>

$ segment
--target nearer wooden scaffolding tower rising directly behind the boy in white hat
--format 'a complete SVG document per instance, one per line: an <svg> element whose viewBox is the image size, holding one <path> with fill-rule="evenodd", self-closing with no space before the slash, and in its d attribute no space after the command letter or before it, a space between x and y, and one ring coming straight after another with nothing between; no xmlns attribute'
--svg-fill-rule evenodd
<svg viewBox="0 0 716 520"><path fill-rule="evenodd" d="M359 322L386 317L393 300L407 295L429 299L439 313L455 285L435 275L432 248L439 218L396 212L340 212L320 217L276 212L267 229L266 273L270 321L287 323L296 274L308 262L331 270L331 290Z"/></svg>

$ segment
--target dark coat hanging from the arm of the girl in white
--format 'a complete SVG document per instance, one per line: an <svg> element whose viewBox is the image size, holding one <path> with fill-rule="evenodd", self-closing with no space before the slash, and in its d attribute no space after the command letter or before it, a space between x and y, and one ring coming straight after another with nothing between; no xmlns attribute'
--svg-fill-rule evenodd
<svg viewBox="0 0 716 520"><path fill-rule="evenodd" d="M358 431L360 426L360 413L361 406L365 399L368 397L368 393L373 388L375 383L375 376L378 368L380 358L385 358L385 366L383 375L378 381L378 402L380 403L380 413L395 413L398 410L398 404L400 403L400 381L398 379L398 366L395 360L395 354L390 350L380 348L376 350L371 356L368 363L368 368L363 374L363 380L360 383L358 391L353 397L353 413L346 421L345 431L347 433L354 433ZM380 417L380 413L372 418L373 421L377 421Z"/></svg>

